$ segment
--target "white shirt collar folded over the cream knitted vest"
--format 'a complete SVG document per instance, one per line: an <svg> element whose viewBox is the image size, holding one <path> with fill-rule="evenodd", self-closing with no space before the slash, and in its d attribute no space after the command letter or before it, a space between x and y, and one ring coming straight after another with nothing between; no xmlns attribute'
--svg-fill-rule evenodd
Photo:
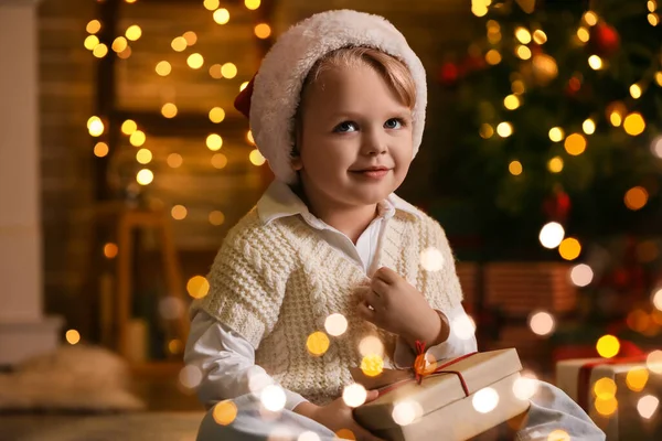
<svg viewBox="0 0 662 441"><path fill-rule="evenodd" d="M384 218L393 217L398 209L420 218L418 208L395 193L392 193L384 201L380 202L377 209L378 215ZM297 196L289 185L281 181L271 182L257 202L257 214L264 225L280 217L301 215L313 227L325 228L325 224L313 216L303 201Z"/></svg>

